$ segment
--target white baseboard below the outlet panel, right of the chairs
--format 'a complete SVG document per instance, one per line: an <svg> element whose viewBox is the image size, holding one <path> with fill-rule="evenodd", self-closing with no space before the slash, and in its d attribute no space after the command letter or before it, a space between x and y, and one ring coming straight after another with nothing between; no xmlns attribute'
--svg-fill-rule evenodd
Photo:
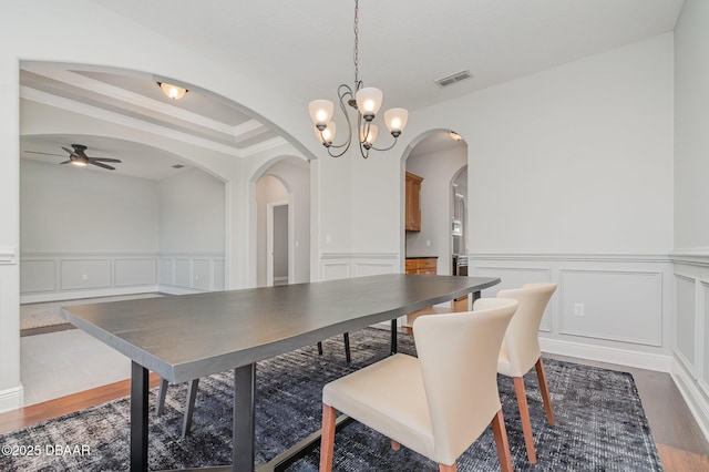
<svg viewBox="0 0 709 472"><path fill-rule="evenodd" d="M542 351L559 356L571 356L599 362L617 363L639 369L671 372L671 356L638 352L629 349L594 346L558 339L540 338Z"/></svg>

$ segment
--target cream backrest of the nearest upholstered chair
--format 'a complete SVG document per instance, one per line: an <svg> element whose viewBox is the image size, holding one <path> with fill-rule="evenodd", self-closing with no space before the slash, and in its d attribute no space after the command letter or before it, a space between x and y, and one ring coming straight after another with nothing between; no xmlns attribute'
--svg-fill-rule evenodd
<svg viewBox="0 0 709 472"><path fill-rule="evenodd" d="M413 324L436 460L443 463L455 461L501 409L497 356L517 301L490 298L480 307Z"/></svg>

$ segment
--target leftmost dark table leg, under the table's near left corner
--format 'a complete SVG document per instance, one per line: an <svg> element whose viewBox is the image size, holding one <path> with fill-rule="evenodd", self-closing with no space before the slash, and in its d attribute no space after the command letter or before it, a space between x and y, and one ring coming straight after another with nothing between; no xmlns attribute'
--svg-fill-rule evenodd
<svg viewBox="0 0 709 472"><path fill-rule="evenodd" d="M131 363L131 472L147 471L147 369Z"/></svg>

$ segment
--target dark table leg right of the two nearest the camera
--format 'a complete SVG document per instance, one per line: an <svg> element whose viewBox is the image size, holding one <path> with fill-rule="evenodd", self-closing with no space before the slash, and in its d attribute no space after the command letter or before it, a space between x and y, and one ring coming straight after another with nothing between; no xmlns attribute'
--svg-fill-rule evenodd
<svg viewBox="0 0 709 472"><path fill-rule="evenodd" d="M234 369L233 468L254 471L256 428L256 365Z"/></svg>

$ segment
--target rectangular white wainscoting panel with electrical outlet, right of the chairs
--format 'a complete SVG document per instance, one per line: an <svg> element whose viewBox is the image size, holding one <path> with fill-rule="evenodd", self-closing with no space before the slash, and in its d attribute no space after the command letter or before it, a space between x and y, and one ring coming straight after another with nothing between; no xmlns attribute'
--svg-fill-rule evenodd
<svg viewBox="0 0 709 472"><path fill-rule="evenodd" d="M662 274L561 273L563 335L662 346Z"/></svg>

